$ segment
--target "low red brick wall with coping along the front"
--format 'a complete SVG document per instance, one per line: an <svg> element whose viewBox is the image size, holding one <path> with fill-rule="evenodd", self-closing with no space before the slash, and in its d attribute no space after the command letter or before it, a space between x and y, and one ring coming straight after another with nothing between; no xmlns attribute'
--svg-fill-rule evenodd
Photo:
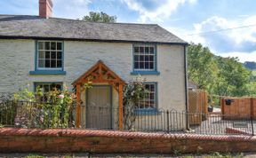
<svg viewBox="0 0 256 158"><path fill-rule="evenodd" d="M104 130L0 129L0 152L172 154L256 152L256 137Z"/></svg>

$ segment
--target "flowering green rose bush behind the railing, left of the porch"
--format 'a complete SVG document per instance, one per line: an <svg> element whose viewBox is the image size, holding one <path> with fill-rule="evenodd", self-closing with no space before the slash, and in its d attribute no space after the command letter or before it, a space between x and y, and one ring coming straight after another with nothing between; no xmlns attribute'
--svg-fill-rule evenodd
<svg viewBox="0 0 256 158"><path fill-rule="evenodd" d="M28 97L24 97L29 94ZM36 97L35 97L36 96ZM70 126L70 116L72 115L73 102L76 99L74 93L70 93L67 88L58 91L54 88L45 94L39 88L36 92L20 91L14 94L18 102L15 125L24 128L67 128ZM35 102L36 101L36 102ZM19 104L21 104L19 106Z"/></svg>

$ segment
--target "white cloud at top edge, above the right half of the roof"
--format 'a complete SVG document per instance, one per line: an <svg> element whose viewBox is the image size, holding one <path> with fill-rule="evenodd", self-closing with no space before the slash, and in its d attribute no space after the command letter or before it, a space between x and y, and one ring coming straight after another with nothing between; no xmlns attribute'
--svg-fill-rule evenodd
<svg viewBox="0 0 256 158"><path fill-rule="evenodd" d="M162 22L172 15L181 4L195 4L196 0L122 0L131 10L140 13L140 22Z"/></svg>

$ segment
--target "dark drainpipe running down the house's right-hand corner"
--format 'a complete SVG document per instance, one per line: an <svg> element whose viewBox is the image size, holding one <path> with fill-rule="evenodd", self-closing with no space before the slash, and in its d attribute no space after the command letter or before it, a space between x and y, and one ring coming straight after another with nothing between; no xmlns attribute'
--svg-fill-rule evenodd
<svg viewBox="0 0 256 158"><path fill-rule="evenodd" d="M185 77L185 107L186 107L186 129L189 130L188 124L188 59L187 59L187 45L184 45L184 77Z"/></svg>

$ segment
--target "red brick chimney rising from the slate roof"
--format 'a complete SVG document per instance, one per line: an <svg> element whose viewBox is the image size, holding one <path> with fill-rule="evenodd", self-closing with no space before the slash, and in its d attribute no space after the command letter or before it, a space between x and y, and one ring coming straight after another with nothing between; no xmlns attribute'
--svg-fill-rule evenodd
<svg viewBox="0 0 256 158"><path fill-rule="evenodd" d="M52 0L39 0L39 17L48 19L52 17Z"/></svg>

